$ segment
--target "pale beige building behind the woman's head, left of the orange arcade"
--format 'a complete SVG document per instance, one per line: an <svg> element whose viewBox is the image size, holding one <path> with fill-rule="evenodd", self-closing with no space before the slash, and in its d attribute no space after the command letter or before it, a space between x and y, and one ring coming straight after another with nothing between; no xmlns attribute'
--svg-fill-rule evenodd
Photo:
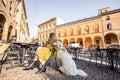
<svg viewBox="0 0 120 80"><path fill-rule="evenodd" d="M48 41L49 34L51 32L56 33L55 27L63 24L64 21L61 18L52 18L42 24L38 25L38 42L43 46Z"/></svg>

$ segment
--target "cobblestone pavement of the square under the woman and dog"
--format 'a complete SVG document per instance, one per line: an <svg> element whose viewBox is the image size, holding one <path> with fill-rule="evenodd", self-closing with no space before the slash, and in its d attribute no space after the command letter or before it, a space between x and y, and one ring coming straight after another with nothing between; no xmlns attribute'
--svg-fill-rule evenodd
<svg viewBox="0 0 120 80"><path fill-rule="evenodd" d="M0 80L120 80L120 73L111 71L107 66L101 68L95 66L95 63L91 63L88 66L88 61L76 60L78 69L84 70L88 77L81 77L79 75L69 76L60 73L50 67L47 67L47 71L40 74L35 74L37 68L33 70L23 70L23 67L16 67L6 70L7 64L4 64Z"/></svg>

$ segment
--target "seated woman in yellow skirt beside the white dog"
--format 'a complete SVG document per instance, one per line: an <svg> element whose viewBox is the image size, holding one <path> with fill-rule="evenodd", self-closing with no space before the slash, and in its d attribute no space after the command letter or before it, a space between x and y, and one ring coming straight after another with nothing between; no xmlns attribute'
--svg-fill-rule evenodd
<svg viewBox="0 0 120 80"><path fill-rule="evenodd" d="M26 67L25 70L32 69L35 61L39 61L39 64L41 65L40 66L41 68L39 69L38 72L39 73L40 72L45 72L46 71L45 63L47 62L49 57L54 52L52 44L55 41L57 41L57 39L55 38L55 34L50 33L49 39L46 42L45 46L38 47L38 49L36 50L34 62L32 64L30 64L30 66Z"/></svg>

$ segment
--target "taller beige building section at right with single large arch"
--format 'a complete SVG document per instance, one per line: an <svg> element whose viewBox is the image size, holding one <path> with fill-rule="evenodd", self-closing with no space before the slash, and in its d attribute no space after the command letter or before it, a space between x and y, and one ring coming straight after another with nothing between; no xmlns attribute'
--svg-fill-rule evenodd
<svg viewBox="0 0 120 80"><path fill-rule="evenodd" d="M103 22L104 46L120 44L120 9L110 11L109 8L104 8L100 11Z"/></svg>

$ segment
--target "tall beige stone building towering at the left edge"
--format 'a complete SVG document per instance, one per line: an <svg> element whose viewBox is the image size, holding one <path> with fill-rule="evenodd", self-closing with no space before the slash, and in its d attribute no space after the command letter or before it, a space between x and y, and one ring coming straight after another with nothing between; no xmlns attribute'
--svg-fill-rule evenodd
<svg viewBox="0 0 120 80"><path fill-rule="evenodd" d="M18 42L29 41L24 0L0 0L0 40L9 41L12 35Z"/></svg>

